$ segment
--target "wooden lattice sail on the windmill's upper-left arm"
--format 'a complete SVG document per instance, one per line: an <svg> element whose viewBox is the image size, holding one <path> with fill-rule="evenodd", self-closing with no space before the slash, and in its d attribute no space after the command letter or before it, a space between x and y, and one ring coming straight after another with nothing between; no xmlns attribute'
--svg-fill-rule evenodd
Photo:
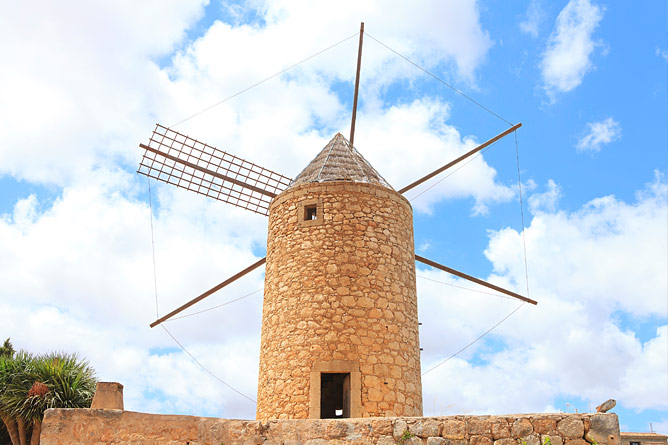
<svg viewBox="0 0 668 445"><path fill-rule="evenodd" d="M287 176L156 124L137 173L250 210L269 213Z"/></svg>

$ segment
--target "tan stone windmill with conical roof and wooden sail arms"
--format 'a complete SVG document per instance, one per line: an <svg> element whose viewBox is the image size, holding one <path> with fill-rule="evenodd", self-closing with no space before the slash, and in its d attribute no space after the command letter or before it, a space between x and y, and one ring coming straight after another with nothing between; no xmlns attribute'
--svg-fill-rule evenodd
<svg viewBox="0 0 668 445"><path fill-rule="evenodd" d="M422 415L415 261L534 300L415 254L402 195L517 124L395 190L336 134L290 178L157 124L138 173L269 217L267 256L160 317L157 326L266 263L258 419Z"/></svg>

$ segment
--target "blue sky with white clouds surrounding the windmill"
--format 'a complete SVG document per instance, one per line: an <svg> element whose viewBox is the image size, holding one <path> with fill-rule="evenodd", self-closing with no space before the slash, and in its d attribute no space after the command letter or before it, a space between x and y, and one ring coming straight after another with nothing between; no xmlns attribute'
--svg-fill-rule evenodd
<svg viewBox="0 0 668 445"><path fill-rule="evenodd" d="M582 412L614 398L623 429L668 433L665 2L2 11L0 337L80 353L125 385L129 410L254 418L262 270L187 315L220 307L165 324L192 356L148 324L263 257L267 221L156 182L149 200L138 144L156 122L178 123L295 176L348 134L364 21L355 145L395 188L523 123L407 193L421 255L521 293L528 275L539 301L517 309L418 264L425 415Z"/></svg>

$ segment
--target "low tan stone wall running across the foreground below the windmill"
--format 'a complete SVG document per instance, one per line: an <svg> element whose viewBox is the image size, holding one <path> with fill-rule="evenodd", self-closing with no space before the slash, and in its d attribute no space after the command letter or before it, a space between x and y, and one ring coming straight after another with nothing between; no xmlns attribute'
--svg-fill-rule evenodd
<svg viewBox="0 0 668 445"><path fill-rule="evenodd" d="M41 443L621 445L615 414L260 422L97 409L48 410L42 425Z"/></svg>

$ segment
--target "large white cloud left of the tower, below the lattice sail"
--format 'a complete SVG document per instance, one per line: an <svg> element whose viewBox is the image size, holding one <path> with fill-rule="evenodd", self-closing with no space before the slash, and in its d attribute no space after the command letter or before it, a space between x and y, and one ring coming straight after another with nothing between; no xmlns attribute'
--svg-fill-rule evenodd
<svg viewBox="0 0 668 445"><path fill-rule="evenodd" d="M110 174L112 175L112 174ZM129 187L68 188L46 211L31 196L0 218L0 326L35 352L77 351L105 380L126 385L126 407L252 417L252 403L194 365L155 319L148 206ZM135 185L133 186L133 182ZM139 185L145 187L140 180ZM194 298L256 260L266 218L153 185L160 313ZM154 207L154 208L155 208ZM201 310L263 287L253 272L209 297ZM169 329L223 380L254 397L262 292L169 322ZM206 328L202 328L206 326ZM169 352L161 352L167 348ZM197 381L189 393L183 381ZM193 394L195 394L193 396Z"/></svg>

